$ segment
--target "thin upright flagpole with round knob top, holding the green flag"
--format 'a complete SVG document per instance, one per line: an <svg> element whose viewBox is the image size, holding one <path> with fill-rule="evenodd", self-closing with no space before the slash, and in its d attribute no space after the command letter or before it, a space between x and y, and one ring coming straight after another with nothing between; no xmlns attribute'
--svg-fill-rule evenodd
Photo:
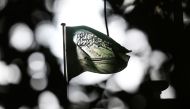
<svg viewBox="0 0 190 109"><path fill-rule="evenodd" d="M68 81L68 72L67 72L67 49L66 49L66 24L62 23L62 29L63 29L63 65L64 65L64 80L65 80L65 108L68 108L69 105L69 100L68 100L68 86L69 86L69 81Z"/></svg>

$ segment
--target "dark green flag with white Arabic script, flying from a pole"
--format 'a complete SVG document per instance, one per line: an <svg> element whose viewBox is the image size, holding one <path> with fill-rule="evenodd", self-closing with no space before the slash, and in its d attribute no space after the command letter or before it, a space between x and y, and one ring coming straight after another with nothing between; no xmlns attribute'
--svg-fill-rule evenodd
<svg viewBox="0 0 190 109"><path fill-rule="evenodd" d="M69 80L84 71L112 74L123 70L130 51L87 26L65 28L65 58Z"/></svg>

